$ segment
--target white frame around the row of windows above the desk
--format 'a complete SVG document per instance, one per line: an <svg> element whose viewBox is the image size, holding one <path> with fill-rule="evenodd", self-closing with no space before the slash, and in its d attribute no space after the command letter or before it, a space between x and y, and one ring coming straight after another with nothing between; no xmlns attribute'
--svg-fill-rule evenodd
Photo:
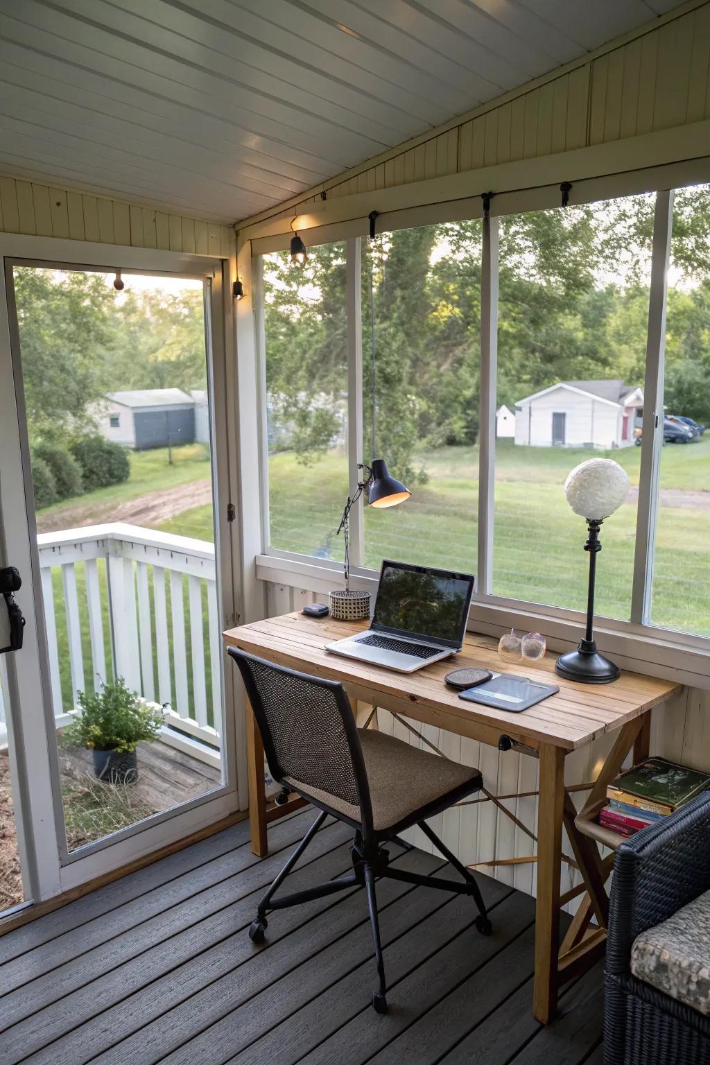
<svg viewBox="0 0 710 1065"><path fill-rule="evenodd" d="M665 343L665 309L667 264L673 223L673 191L710 181L710 159L668 164L648 170L627 171L577 182L573 186L573 203L595 202L633 195L656 193L655 225L651 250L651 279L646 344L644 384L644 421L654 426L642 438L637 539L632 581L630 620L596 616L595 634L602 651L614 653L620 663L641 669L649 674L674 677L695 687L710 688L708 654L710 638L664 628L650 622L653 593L653 559L656 537L658 475L662 445L662 390ZM493 562L493 492L495 485L495 412L497 382L497 305L498 305L498 218L560 206L557 186L540 186L519 192L506 192L491 201L490 218L483 220L481 257L481 387L479 432L479 494L477 586L472 600L469 626L479 632L498 635L511 626L539 627L555 650L566 650L579 639L584 623L582 610L565 609L525 600L507 599L492 592ZM378 231L431 225L457 218L482 217L480 199L468 198L445 204L393 211ZM362 329L360 314L360 235L365 232L364 219L324 225L308 233L307 245L347 240L347 311L348 311L348 456L350 488L357 478L357 462L362 461ZM285 250L285 235L255 236L247 242L253 263L253 274L261 279L262 256ZM257 329L255 356L259 373L265 375L265 337L263 327L263 292L261 281L254 285ZM653 410L653 417L648 414ZM660 417L658 416L660 412ZM257 558L257 576L262 580L283 583L324 594L340 587L342 566L330 560L314 559L296 552L280 551L269 545L268 536L268 452L262 443L260 457L262 514L262 552ZM335 520L335 515L333 515ZM374 591L377 571L362 566L363 501L351 511L351 527L357 545L351 551L350 575L354 587ZM581 541L580 541L581 542Z"/></svg>

